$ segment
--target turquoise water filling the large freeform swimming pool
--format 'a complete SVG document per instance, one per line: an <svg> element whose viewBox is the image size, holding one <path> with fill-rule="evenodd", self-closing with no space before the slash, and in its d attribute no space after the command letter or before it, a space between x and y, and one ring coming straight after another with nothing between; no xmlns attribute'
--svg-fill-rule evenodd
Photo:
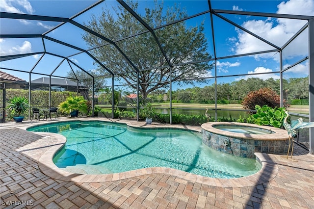
<svg viewBox="0 0 314 209"><path fill-rule="evenodd" d="M207 147L201 133L194 131L134 129L100 121L53 123L27 130L59 133L67 138L53 158L59 168L94 165L105 174L170 167L213 178L238 178L261 169L255 159Z"/></svg>

